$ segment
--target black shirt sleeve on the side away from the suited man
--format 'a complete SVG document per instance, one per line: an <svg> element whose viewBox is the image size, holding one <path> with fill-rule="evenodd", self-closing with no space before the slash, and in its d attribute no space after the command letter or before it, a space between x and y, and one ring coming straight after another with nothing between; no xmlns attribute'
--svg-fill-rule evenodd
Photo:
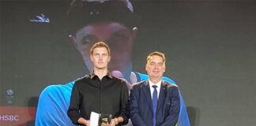
<svg viewBox="0 0 256 126"><path fill-rule="evenodd" d="M79 113L80 102L81 102L81 96L78 90L77 83L75 83L73 85L72 94L70 98L70 107L67 111L67 114L70 117L70 120L72 120L73 124L78 124L78 119L81 117L81 113Z"/></svg>

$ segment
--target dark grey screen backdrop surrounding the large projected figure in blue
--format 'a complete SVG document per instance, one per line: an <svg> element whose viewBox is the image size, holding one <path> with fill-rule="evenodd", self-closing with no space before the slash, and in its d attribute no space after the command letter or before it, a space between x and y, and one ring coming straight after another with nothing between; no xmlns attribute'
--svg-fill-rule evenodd
<svg viewBox="0 0 256 126"><path fill-rule="evenodd" d="M88 73L68 39L64 14L69 3L1 1L1 106L30 106L44 87ZM133 4L138 28L134 71L146 73L147 54L162 51L164 76L178 83L192 126L256 124L254 1ZM29 22L40 13L51 22ZM6 103L9 88L14 91L11 105Z"/></svg>

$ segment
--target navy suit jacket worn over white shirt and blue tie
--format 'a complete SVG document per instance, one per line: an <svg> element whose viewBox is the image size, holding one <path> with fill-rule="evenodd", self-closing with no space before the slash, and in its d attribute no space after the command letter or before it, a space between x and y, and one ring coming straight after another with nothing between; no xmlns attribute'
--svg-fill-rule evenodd
<svg viewBox="0 0 256 126"><path fill-rule="evenodd" d="M156 109L156 126L174 126L179 118L179 87L162 81ZM134 126L152 126L149 80L134 83L130 90L130 119Z"/></svg>

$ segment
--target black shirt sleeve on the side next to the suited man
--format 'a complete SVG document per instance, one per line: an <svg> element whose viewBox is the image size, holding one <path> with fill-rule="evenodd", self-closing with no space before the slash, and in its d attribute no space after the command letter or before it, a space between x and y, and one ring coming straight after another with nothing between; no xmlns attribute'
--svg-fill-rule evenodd
<svg viewBox="0 0 256 126"><path fill-rule="evenodd" d="M128 93L128 87L124 81L122 81L122 87L121 87L121 113L119 117L122 117L123 122L120 123L122 125L127 124L129 120L129 113L128 113L128 99L129 99L129 93Z"/></svg>

